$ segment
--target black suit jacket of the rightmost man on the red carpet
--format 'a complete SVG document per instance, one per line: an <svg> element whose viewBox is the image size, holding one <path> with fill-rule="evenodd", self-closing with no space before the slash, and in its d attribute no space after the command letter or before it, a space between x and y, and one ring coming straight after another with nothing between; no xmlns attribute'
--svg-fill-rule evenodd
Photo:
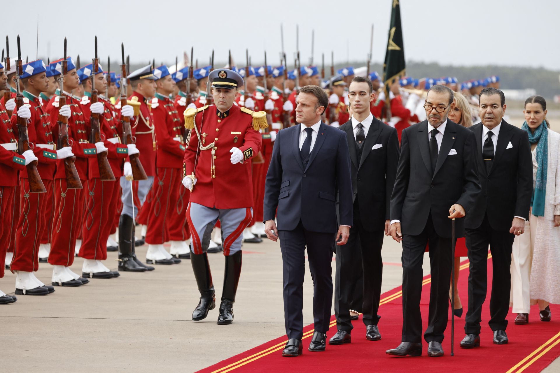
<svg viewBox="0 0 560 373"><path fill-rule="evenodd" d="M482 122L469 129L477 139L478 176L482 192L477 195L474 208L466 216L465 227L475 229L482 224L484 214L492 229L509 231L514 216L529 218L533 195L533 157L529 136L502 120L496 154L490 172L482 159ZM507 149L511 143L511 148Z"/></svg>

